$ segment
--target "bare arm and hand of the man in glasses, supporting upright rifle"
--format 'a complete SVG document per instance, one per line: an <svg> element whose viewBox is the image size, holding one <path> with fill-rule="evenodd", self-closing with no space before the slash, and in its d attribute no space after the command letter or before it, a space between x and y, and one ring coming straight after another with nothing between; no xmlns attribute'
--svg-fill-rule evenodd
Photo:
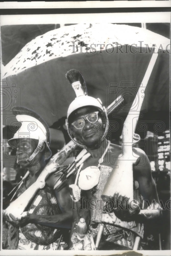
<svg viewBox="0 0 171 256"><path fill-rule="evenodd" d="M139 155L141 159L133 166L133 176L138 181L140 194L143 196L147 206L145 209L140 209L138 204L129 203L129 198L115 193L113 196L115 215L125 221L145 222L156 220L162 216L162 208L159 206L156 185L151 174L150 161L143 150L133 148L133 152ZM122 208L117 207L118 200L121 202Z"/></svg>

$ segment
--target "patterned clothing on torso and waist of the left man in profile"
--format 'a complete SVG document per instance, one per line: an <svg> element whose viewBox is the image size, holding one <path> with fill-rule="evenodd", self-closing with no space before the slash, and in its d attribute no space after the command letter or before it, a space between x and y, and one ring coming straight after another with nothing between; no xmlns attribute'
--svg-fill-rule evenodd
<svg viewBox="0 0 171 256"><path fill-rule="evenodd" d="M26 180L20 187L17 197L26 190L25 183ZM36 193L27 206L26 211L30 214L48 216L61 213L55 193L47 185ZM17 228L10 224L8 244L10 249L56 250L60 235L61 230L53 226L28 223L24 227ZM66 247L67 244L65 242L60 242L58 249L65 249Z"/></svg>

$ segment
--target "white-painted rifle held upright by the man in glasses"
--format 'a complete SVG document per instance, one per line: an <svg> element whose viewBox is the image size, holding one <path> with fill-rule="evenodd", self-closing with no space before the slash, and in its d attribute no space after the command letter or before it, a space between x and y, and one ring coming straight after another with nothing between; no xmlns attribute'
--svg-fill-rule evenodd
<svg viewBox="0 0 171 256"><path fill-rule="evenodd" d="M132 103L130 111L127 115L127 118L124 122L123 126L123 154L118 158L116 162L117 168L113 168L112 172L109 175L109 178L105 184L103 189L103 193L101 198L107 201L111 196L113 197L114 193L117 191L120 195L126 196L129 201L133 200L133 164L139 158L138 155L135 155L132 151L133 144L133 134L135 133L135 129L137 126L137 122L140 115L140 110L142 107L142 102L144 100L145 91L144 89L147 86L149 81L151 72L155 65L158 54L153 53L147 70L145 72L142 83L139 86L139 90L135 97L135 100ZM139 100L138 107L135 111L133 111L135 106L135 101ZM99 227L99 232L96 238L96 248L99 247L100 240L103 234L104 224L102 223ZM137 236L134 241L133 250L138 249L138 245L140 242L140 237Z"/></svg>

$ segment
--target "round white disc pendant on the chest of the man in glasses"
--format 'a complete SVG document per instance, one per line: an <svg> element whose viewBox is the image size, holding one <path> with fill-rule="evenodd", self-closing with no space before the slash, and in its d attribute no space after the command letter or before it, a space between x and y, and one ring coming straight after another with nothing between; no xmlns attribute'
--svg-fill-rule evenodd
<svg viewBox="0 0 171 256"><path fill-rule="evenodd" d="M100 170L98 167L89 166L80 172L78 186L82 190L92 189L99 183Z"/></svg>

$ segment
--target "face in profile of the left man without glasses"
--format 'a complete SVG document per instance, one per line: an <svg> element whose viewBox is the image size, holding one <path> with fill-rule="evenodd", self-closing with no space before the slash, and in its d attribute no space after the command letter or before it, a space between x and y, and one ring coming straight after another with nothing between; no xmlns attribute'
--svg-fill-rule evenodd
<svg viewBox="0 0 171 256"><path fill-rule="evenodd" d="M18 159L18 163L25 167L29 163L26 161L35 151L38 145L38 140L30 139L30 138L20 138L18 140L18 146L16 147L16 156Z"/></svg>

